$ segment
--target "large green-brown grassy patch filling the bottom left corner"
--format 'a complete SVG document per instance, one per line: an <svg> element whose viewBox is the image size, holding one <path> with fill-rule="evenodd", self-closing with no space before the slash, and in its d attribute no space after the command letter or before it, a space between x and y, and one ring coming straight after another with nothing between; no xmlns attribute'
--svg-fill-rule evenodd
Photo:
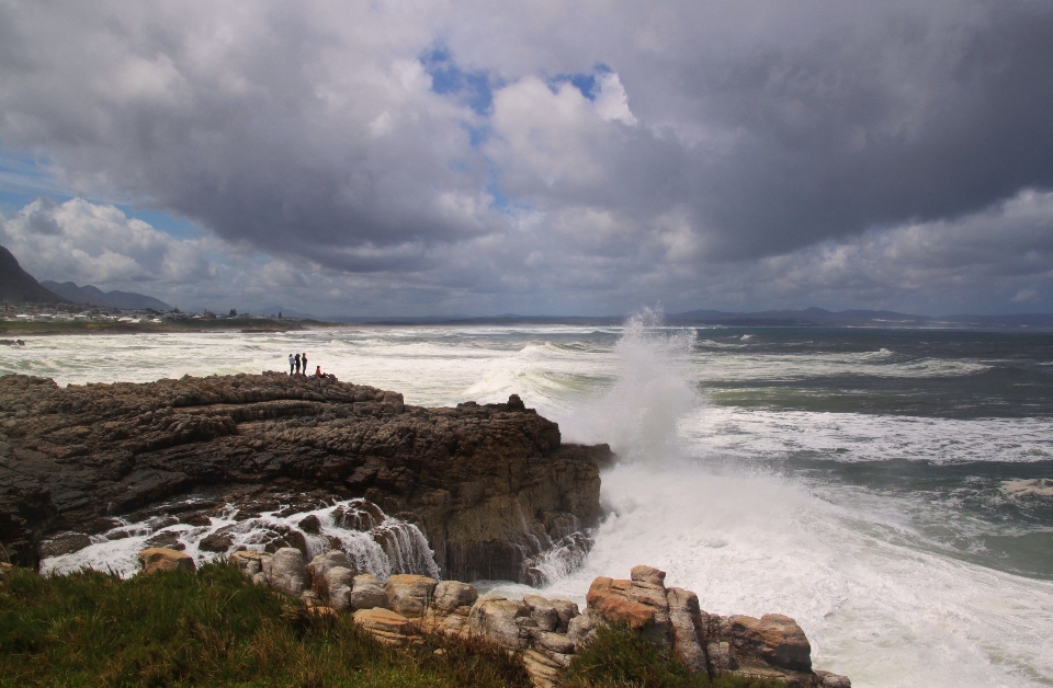
<svg viewBox="0 0 1053 688"><path fill-rule="evenodd" d="M435 653L441 647L443 652ZM0 582L0 686L528 687L514 657L431 639L386 647L222 564Z"/></svg>

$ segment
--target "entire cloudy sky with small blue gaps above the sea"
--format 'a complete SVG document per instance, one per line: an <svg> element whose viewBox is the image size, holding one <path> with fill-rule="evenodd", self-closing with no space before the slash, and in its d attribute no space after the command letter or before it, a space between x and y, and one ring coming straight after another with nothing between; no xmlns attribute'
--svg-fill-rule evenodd
<svg viewBox="0 0 1053 688"><path fill-rule="evenodd" d="M1053 3L0 0L0 244L183 309L1053 311Z"/></svg>

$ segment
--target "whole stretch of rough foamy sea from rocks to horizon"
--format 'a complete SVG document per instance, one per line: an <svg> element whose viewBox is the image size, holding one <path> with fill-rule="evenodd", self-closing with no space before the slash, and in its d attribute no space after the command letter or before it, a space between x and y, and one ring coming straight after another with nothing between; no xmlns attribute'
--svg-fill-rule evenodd
<svg viewBox="0 0 1053 688"><path fill-rule="evenodd" d="M407 403L518 393L608 442L608 513L543 594L646 563L716 614L797 620L868 686L1053 685L1053 335L849 329L332 328L29 337L59 385L287 369L307 352ZM489 582L498 590L525 588Z"/></svg>

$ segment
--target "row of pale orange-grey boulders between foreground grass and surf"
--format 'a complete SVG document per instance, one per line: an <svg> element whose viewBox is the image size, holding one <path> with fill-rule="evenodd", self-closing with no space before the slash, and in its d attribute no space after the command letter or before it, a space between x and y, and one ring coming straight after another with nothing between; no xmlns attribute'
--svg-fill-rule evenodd
<svg viewBox="0 0 1053 688"><path fill-rule="evenodd" d="M162 557L157 548L146 550L140 554L144 571L151 571L149 562L185 557L169 552ZM694 593L667 588L665 572L652 566L635 566L630 580L596 578L582 612L565 599L479 596L466 583L421 575L393 575L382 584L356 572L337 550L309 563L294 548L273 554L239 551L230 561L253 583L298 597L318 614L353 614L355 622L389 645L409 646L427 634L441 634L483 639L520 653L539 688L556 686L559 670L598 627L611 622L639 630L649 642L671 649L692 672L711 678L737 675L794 688L851 688L847 677L812 668L812 646L790 617L707 614Z"/></svg>

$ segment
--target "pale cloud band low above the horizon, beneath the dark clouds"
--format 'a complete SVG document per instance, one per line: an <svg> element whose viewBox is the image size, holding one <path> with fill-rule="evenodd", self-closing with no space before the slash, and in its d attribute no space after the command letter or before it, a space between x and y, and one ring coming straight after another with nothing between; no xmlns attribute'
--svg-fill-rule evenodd
<svg viewBox="0 0 1053 688"><path fill-rule="evenodd" d="M575 207L463 245L363 246L340 257L373 266L367 273L207 234L174 238L112 205L76 198L37 199L0 219L0 243L39 279L217 311L622 314L624 303L663 301L669 312L820 303L938 314L1034 310L1053 293L1053 193L1035 191L956 221L874 229L704 271L697 267L703 248L677 211L638 232L631 218Z"/></svg>

